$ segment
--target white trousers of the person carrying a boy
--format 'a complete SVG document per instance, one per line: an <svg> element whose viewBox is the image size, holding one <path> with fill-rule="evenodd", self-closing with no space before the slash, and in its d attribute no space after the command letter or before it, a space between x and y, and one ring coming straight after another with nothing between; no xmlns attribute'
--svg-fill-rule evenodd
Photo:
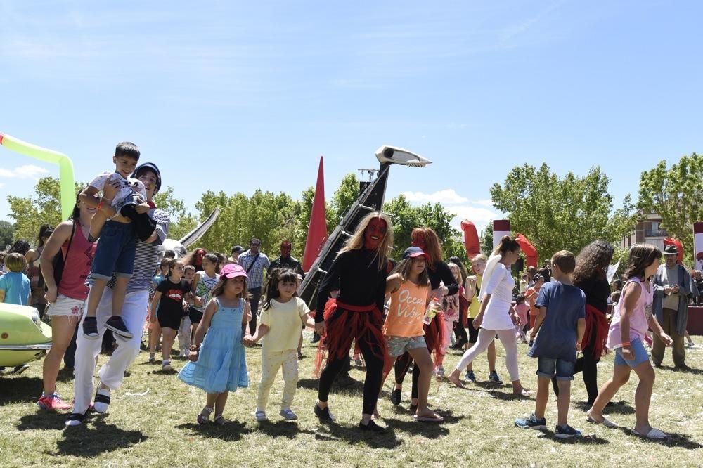
<svg viewBox="0 0 703 468"><path fill-rule="evenodd" d="M134 337L122 339L117 337L117 349L112 351L112 356L108 362L98 371L101 382L117 389L124 379L124 371L132 363L139 353L141 344L141 330L146 320L146 312L149 306L149 292L130 292L124 297L122 306L122 320L127 325L127 330L134 330ZM88 410L91 398L93 397L93 374L96 367L96 358L100 354L103 334L105 333L105 322L112 315L112 290L106 287L103 297L98 304L96 317L98 318L98 339L88 339L79 330L76 339L76 363L75 382L73 390L73 412L84 413ZM84 317L85 318L85 317ZM140 332L137 332L139 330Z"/></svg>

